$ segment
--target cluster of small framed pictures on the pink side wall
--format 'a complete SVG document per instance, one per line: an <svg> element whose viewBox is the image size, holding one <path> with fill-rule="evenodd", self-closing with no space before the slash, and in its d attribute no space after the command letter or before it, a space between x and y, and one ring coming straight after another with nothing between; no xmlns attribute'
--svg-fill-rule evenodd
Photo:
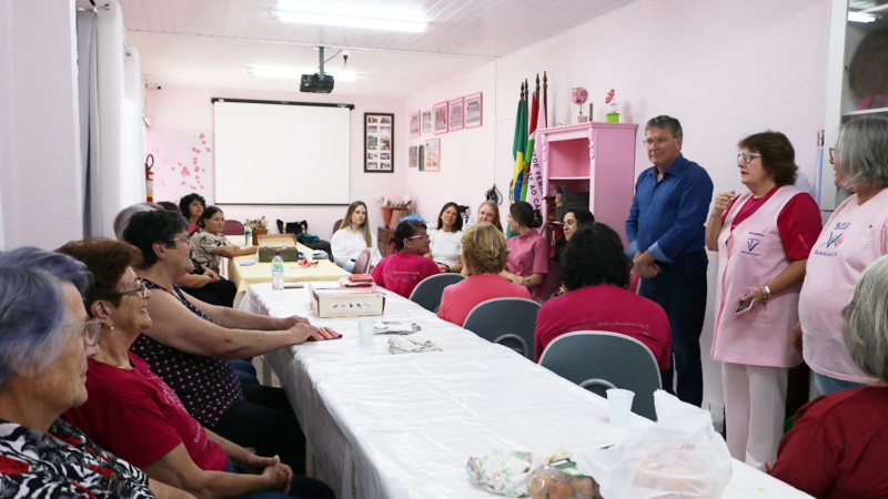
<svg viewBox="0 0 888 499"><path fill-rule="evenodd" d="M482 92L438 102L431 110L410 113L410 138L443 135L475 129L483 123ZM428 138L421 145L410 146L410 167L421 172L441 171L441 139Z"/></svg>

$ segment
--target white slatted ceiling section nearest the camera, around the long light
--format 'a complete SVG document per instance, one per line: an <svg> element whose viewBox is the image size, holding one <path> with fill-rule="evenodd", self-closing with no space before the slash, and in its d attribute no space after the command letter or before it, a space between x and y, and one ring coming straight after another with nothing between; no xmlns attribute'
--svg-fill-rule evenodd
<svg viewBox="0 0 888 499"><path fill-rule="evenodd" d="M271 18L275 0L120 0L127 30L240 40L498 58L640 0L305 0L418 11L422 33L331 28Z"/></svg>

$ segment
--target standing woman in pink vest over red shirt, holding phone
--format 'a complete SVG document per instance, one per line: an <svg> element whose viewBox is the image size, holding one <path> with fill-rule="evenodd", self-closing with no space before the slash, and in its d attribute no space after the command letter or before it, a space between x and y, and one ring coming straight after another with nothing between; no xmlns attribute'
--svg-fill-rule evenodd
<svg viewBox="0 0 888 499"><path fill-rule="evenodd" d="M793 184L795 150L779 132L741 140L740 182L749 192L716 195L706 246L718 251L713 358L720 360L730 455L753 467L777 456L789 345L805 263L820 232L814 198Z"/></svg>

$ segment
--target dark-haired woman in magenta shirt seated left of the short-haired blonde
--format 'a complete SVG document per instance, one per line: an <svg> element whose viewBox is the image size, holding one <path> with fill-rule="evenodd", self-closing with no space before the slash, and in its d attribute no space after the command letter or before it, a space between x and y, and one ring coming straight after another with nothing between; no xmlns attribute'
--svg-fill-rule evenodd
<svg viewBox="0 0 888 499"><path fill-rule="evenodd" d="M437 264L424 257L428 253L425 224L405 220L395 227L392 246L397 251L373 267L371 275L380 286L410 298L413 288L430 275L441 274Z"/></svg>

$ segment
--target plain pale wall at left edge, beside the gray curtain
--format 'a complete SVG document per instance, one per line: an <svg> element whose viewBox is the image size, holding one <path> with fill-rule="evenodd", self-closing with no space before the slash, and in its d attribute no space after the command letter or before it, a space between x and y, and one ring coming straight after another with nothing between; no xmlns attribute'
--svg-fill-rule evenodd
<svg viewBox="0 0 888 499"><path fill-rule="evenodd" d="M0 216L7 248L82 234L73 0L0 2Z"/></svg>

